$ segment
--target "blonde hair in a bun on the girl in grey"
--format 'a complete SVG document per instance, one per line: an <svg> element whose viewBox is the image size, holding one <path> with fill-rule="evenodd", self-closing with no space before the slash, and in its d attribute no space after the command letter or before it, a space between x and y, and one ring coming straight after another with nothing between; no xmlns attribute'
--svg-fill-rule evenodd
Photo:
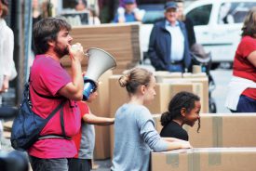
<svg viewBox="0 0 256 171"><path fill-rule="evenodd" d="M140 85L148 85L151 80L152 72L143 68L133 68L122 75L118 82L122 87L126 87L128 94L135 94Z"/></svg>

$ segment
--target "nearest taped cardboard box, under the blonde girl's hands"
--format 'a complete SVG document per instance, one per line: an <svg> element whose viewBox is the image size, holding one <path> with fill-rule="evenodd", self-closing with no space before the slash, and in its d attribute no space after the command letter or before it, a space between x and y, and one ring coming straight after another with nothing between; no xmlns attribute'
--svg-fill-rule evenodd
<svg viewBox="0 0 256 171"><path fill-rule="evenodd" d="M201 148L152 152L152 171L254 171L256 148Z"/></svg>

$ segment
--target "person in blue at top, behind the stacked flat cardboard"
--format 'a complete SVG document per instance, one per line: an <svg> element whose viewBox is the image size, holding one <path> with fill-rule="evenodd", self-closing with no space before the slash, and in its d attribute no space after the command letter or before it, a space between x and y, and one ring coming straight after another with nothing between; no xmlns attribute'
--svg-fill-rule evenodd
<svg viewBox="0 0 256 171"><path fill-rule="evenodd" d="M136 5L135 0L123 0L120 2L120 7L117 9L114 22L123 23L141 20L142 15L140 13L140 9Z"/></svg>

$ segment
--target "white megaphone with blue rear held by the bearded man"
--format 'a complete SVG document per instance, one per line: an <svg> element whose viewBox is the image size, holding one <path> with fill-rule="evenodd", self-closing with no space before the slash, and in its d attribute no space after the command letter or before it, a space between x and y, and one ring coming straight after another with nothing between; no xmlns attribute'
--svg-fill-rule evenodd
<svg viewBox="0 0 256 171"><path fill-rule="evenodd" d="M97 87L101 74L116 67L114 57L105 50L97 47L88 49L88 71L84 77L83 100L88 100L89 95Z"/></svg>

